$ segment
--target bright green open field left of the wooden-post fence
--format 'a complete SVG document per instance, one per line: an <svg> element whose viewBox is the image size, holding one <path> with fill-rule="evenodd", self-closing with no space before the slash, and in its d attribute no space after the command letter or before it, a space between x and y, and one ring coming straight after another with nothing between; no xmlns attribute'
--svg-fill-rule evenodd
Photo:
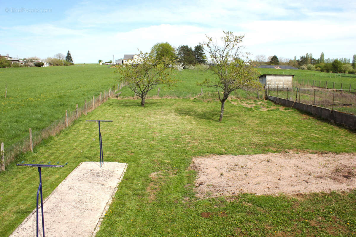
<svg viewBox="0 0 356 237"><path fill-rule="evenodd" d="M58 66L0 69L0 142L5 151L36 133L75 105L84 105L109 87L117 85L114 69L107 66ZM5 88L7 96L5 98Z"/></svg>

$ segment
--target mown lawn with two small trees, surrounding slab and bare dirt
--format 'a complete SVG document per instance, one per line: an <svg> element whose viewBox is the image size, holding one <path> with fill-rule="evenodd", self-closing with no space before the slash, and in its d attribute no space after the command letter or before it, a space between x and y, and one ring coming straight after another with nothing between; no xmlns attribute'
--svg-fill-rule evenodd
<svg viewBox="0 0 356 237"><path fill-rule="evenodd" d="M99 161L98 127L85 120L110 119L114 122L101 126L104 161L128 168L96 236L355 236L355 190L195 197L196 173L189 169L195 156L356 152L355 133L342 127L271 102L264 102L267 110L235 102L226 103L219 123L220 102L206 97L147 99L145 107L139 100L109 99L17 162L68 162L43 169L47 196L80 162ZM8 236L35 208L38 172L12 164L0 173L0 183L0 236ZM202 212L211 216L201 217Z"/></svg>

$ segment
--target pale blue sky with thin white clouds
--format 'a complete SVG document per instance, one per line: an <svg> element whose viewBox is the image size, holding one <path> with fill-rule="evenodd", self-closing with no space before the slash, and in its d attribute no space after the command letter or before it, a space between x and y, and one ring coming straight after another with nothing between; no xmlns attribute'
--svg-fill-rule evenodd
<svg viewBox="0 0 356 237"><path fill-rule="evenodd" d="M356 54L356 1L4 1L0 54L41 59L69 50L75 63L149 52L158 42L194 49L223 31L244 35L245 52L297 59Z"/></svg>

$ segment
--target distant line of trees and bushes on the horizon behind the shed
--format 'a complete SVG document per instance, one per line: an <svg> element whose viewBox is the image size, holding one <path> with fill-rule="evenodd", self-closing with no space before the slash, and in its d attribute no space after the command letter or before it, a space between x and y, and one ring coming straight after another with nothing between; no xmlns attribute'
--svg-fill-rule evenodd
<svg viewBox="0 0 356 237"><path fill-rule="evenodd" d="M302 55L299 59L297 59L297 56L294 56L294 59L284 59L282 57L278 59L276 55L269 56L268 58L266 58L266 56L263 54L256 55L255 58L256 60L254 61L254 63L256 65L289 65L302 70L345 74L355 74L356 70L356 54L354 54L352 58L352 63L351 60L348 58L325 59L324 53L321 53L318 59L315 59L311 53Z"/></svg>

